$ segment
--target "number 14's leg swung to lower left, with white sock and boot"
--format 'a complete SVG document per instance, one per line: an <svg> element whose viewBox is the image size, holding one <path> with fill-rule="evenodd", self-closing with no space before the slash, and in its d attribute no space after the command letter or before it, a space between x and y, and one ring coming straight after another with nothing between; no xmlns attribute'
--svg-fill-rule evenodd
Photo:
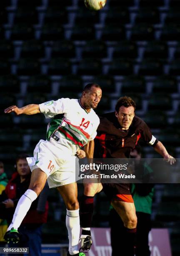
<svg viewBox="0 0 180 256"><path fill-rule="evenodd" d="M40 194L43 187L45 186L46 180L47 174L43 172L40 168L34 169L32 171L30 186L18 201L18 205L16 206L13 215L13 220L7 228L7 232L5 233L5 241L19 241L17 230L20 224L22 223L23 219L25 218L25 215L27 214L28 210L30 209L32 202L37 198L37 196Z"/></svg>

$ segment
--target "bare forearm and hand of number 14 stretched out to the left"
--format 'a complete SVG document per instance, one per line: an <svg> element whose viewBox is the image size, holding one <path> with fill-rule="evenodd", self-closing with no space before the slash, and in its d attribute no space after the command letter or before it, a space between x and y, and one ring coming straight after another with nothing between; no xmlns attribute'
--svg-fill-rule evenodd
<svg viewBox="0 0 180 256"><path fill-rule="evenodd" d="M34 115L40 113L39 105L37 104L30 104L26 105L22 108L18 108L16 105L10 106L4 110L5 114L15 112L16 115L26 114L26 115Z"/></svg>

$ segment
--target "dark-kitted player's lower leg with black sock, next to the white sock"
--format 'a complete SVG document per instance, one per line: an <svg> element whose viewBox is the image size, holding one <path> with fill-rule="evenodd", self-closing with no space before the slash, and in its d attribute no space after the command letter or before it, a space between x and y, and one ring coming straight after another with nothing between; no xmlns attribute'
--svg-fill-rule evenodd
<svg viewBox="0 0 180 256"><path fill-rule="evenodd" d="M81 200L81 248L83 250L89 250L92 245L91 240L91 223L94 210L94 196L96 193L102 190L101 183L84 183L84 195Z"/></svg>

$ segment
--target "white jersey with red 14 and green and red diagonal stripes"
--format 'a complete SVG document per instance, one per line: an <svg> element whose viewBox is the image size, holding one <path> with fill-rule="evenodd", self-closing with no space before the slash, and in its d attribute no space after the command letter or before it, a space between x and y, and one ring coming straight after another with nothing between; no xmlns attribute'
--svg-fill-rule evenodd
<svg viewBox="0 0 180 256"><path fill-rule="evenodd" d="M80 100L61 98L42 103L39 107L46 118L53 118L46 137L55 146L65 146L75 154L77 149L95 138L100 120L93 109L87 112Z"/></svg>

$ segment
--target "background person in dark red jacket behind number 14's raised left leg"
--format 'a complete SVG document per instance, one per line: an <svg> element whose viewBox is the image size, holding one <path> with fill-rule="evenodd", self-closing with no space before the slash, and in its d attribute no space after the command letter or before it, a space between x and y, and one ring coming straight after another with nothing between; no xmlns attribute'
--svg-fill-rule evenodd
<svg viewBox="0 0 180 256"><path fill-rule="evenodd" d="M16 159L17 171L13 173L6 189L0 195L0 202L2 202L0 217L1 215L6 216L8 224L13 218L18 200L30 184L31 171L26 157L28 157L27 154L18 156ZM42 191L40 196L32 203L19 228L21 236L18 247L29 247L29 255L31 256L41 255L42 223L46 223L48 211L47 195L44 194L44 191ZM14 244L11 246L14 247Z"/></svg>

